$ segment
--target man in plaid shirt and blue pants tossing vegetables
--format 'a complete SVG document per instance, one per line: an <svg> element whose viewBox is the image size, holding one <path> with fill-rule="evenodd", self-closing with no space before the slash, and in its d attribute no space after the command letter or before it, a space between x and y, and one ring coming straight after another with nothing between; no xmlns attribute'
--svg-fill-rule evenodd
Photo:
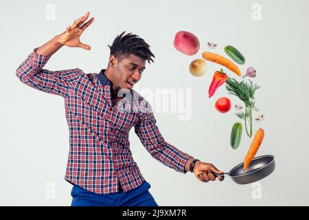
<svg viewBox="0 0 309 220"><path fill-rule="evenodd" d="M80 42L82 32L94 20L87 21L88 17L89 12L65 32L35 48L16 70L16 76L26 85L65 98L70 135L65 179L73 184L71 206L157 206L148 190L150 184L130 152L128 133L133 126L147 151L159 162L180 173L191 171L200 181L214 181L214 173L222 171L165 142L152 111L141 111L151 108L133 86L141 79L146 61L153 62L155 56L139 36L124 32L117 36L113 45L108 45L108 67L100 74L84 74L78 68L56 72L43 69L63 45L91 50ZM129 91L125 98L118 96L122 89ZM119 108L128 97L141 104L139 111Z"/></svg>

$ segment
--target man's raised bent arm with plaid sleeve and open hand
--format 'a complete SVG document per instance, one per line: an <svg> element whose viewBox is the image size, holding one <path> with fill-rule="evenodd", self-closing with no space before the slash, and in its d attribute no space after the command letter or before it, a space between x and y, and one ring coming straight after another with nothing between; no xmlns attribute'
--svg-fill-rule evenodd
<svg viewBox="0 0 309 220"><path fill-rule="evenodd" d="M52 72L43 69L43 67L52 54L57 52L63 45L90 50L89 45L80 43L80 35L93 22L92 18L87 23L84 23L88 17L89 12L84 17L76 20L72 26L67 27L65 32L55 36L41 47L35 48L16 69L16 76L19 80L34 89L63 97L67 96L70 89L76 85L82 71L76 68Z"/></svg>

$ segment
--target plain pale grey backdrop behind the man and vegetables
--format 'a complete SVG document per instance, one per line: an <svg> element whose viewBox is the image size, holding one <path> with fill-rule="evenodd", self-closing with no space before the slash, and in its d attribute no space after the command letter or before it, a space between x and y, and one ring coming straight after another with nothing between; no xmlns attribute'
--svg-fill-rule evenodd
<svg viewBox="0 0 309 220"><path fill-rule="evenodd" d="M23 85L15 70L34 47L89 11L95 21L84 32L82 42L92 50L63 47L45 68L79 67L86 73L99 72L108 61L107 45L117 34L124 30L138 34L150 44L156 58L155 63L146 65L137 89L148 93L149 99L157 98L152 103L157 106L155 116L163 137L221 170L229 171L243 161L251 139L243 133L240 147L231 149L229 136L231 126L238 121L237 111L232 108L229 113L218 113L214 102L221 96L228 96L233 104L241 102L228 95L225 87L208 98L218 65L208 62L208 71L200 78L192 76L188 66L209 50L208 41L214 41L218 47L212 52L224 55L223 47L234 45L246 56L242 72L249 66L258 70L252 80L262 87L256 92L256 106L265 118L253 122L253 133L259 127L264 129L257 155L275 155L275 172L244 186L229 177L223 182L203 183L192 173L183 175L157 162L132 130L133 156L159 205L308 206L308 6L306 0L1 1L0 205L71 203L71 185L64 180L69 129L63 99ZM174 34L179 30L198 36L198 54L186 56L174 49ZM168 102L170 109L160 108L158 94L163 89L176 93L179 100L185 94L185 113L181 108L185 102L178 99L176 110L172 110L173 98Z"/></svg>

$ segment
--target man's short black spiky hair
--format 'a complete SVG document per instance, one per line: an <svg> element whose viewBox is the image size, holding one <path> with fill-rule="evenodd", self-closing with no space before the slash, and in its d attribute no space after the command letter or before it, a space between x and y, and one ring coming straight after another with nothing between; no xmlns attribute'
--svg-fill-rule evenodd
<svg viewBox="0 0 309 220"><path fill-rule="evenodd" d="M150 51L148 43L132 32L126 35L124 32L115 38L113 45L108 45L111 49L110 56L114 55L117 59L122 60L122 58L129 57L130 54L134 54L144 58L148 63L150 61L154 63L151 57L155 58L155 55Z"/></svg>

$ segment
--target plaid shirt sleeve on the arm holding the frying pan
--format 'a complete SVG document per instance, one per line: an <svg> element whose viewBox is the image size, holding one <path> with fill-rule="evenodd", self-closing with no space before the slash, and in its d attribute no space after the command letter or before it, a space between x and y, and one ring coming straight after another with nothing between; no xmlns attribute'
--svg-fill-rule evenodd
<svg viewBox="0 0 309 220"><path fill-rule="evenodd" d="M187 173L185 164L192 156L165 142L156 122L152 111L141 113L139 123L135 125L135 133L139 140L150 155L159 162L180 173Z"/></svg>

